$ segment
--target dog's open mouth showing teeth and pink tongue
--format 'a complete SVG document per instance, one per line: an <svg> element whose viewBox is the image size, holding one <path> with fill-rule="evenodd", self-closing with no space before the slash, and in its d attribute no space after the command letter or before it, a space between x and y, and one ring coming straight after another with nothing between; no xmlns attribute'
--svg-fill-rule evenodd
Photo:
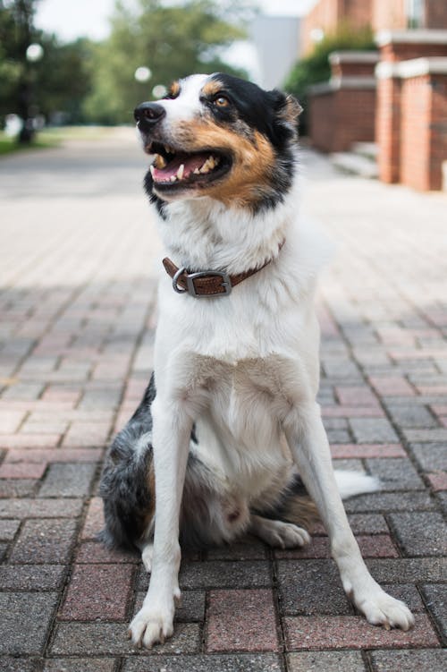
<svg viewBox="0 0 447 672"><path fill-rule="evenodd" d="M159 191L205 186L232 167L231 158L216 149L188 153L153 142L146 151L156 155L149 169Z"/></svg>

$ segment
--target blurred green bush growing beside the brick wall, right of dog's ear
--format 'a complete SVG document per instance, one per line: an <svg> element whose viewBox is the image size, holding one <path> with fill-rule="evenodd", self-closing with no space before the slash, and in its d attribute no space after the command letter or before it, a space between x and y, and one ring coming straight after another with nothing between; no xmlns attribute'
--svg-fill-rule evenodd
<svg viewBox="0 0 447 672"><path fill-rule="evenodd" d="M363 51L375 48L373 32L369 27L352 29L349 24L344 24L318 42L311 54L297 61L284 82L284 89L298 98L303 107L303 113L299 117L301 132L307 131L308 87L328 81L331 77L329 55L333 51Z"/></svg>

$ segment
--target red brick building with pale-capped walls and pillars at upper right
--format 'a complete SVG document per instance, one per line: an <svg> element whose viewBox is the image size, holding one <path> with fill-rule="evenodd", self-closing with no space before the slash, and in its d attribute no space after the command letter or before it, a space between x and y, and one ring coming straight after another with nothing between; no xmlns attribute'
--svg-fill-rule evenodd
<svg viewBox="0 0 447 672"><path fill-rule="evenodd" d="M303 44L341 22L369 23L377 51L331 55L331 80L308 90L314 146L340 152L375 140L381 180L447 189L447 2L319 0Z"/></svg>

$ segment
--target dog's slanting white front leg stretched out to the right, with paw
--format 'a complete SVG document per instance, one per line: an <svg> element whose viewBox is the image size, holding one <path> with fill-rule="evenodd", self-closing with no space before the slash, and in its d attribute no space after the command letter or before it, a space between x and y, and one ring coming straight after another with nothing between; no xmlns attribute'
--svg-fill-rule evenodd
<svg viewBox="0 0 447 672"><path fill-rule="evenodd" d="M409 630L414 618L409 608L382 590L367 570L350 530L342 498L333 476L331 453L318 404L305 404L290 413L284 431L300 476L314 499L331 543L343 588L369 623L386 629Z"/></svg>

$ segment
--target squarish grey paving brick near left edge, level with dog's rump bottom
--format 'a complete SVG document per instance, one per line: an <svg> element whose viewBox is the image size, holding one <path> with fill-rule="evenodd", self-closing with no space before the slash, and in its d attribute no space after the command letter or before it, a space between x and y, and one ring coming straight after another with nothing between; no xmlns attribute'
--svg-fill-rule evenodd
<svg viewBox="0 0 447 672"><path fill-rule="evenodd" d="M12 563L64 563L71 554L76 523L67 519L29 520L15 542Z"/></svg>

